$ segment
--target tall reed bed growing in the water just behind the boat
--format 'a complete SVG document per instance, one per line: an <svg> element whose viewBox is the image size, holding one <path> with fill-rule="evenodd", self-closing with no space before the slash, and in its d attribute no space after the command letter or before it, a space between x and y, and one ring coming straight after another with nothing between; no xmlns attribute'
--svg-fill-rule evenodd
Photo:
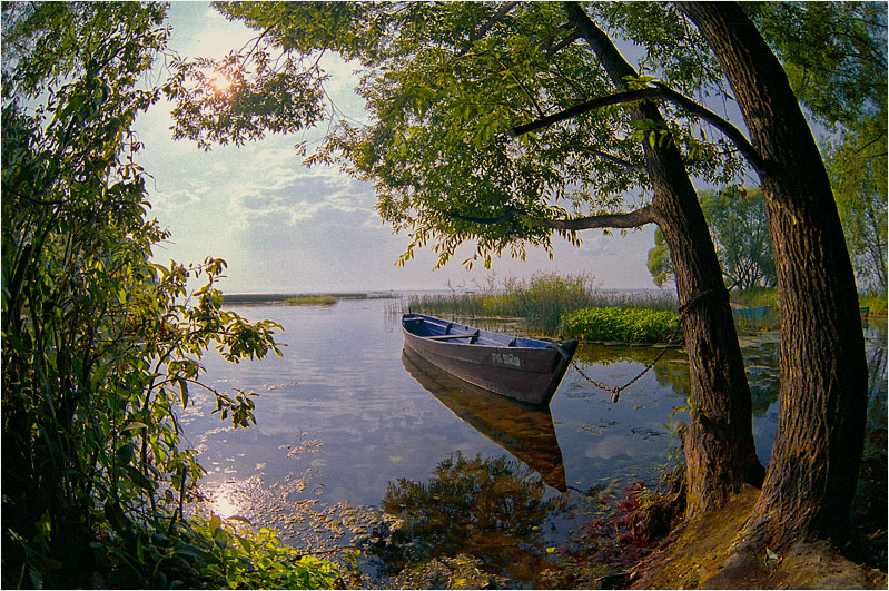
<svg viewBox="0 0 889 591"><path fill-rule="evenodd" d="M506 279L501 287L476 293L411 296L407 308L433 316L463 318L521 318L527 332L557 336L562 317L585 308L643 308L675 312L675 297L666 293L606 292L589 275L542 274L529 279Z"/></svg>

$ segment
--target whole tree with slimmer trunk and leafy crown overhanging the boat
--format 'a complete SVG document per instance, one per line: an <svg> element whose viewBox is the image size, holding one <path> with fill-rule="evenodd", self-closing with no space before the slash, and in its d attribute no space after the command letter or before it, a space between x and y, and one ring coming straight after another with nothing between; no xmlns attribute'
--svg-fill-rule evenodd
<svg viewBox="0 0 889 591"><path fill-rule="evenodd" d="M659 108L662 90L648 83L655 75L681 90L718 83L700 38L671 46L688 30L675 11L516 2L218 8L259 37L215 65L234 82L226 93L206 90L210 62L180 63L177 134L208 147L314 125L324 117L319 53L360 61L371 124L342 119L308 162L339 162L374 184L383 219L408 235L402 263L429 243L444 264L474 242L464 263L490 265L504 252L550 249L554 235L576 244L581 230L656 224L673 256L691 361L688 513L761 481L728 292L690 179L728 183L741 162L727 144L702 141L681 110ZM608 23L650 40L640 68L605 33Z"/></svg>

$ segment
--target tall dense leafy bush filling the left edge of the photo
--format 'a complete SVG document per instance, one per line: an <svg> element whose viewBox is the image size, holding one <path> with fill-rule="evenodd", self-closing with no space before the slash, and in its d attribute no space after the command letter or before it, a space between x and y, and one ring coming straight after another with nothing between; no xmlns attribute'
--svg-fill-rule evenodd
<svg viewBox="0 0 889 591"><path fill-rule="evenodd" d="M131 125L166 6L3 4L2 516L4 588L329 587L270 532L188 519L204 473L177 408L210 392L235 427L247 394L201 358L280 354L269 321L221 308L225 263L168 266Z"/></svg>

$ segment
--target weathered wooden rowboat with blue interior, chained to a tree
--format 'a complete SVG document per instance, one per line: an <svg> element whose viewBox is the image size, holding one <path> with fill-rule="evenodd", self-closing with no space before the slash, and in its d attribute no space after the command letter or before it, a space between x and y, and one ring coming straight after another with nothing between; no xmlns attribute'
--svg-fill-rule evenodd
<svg viewBox="0 0 889 591"><path fill-rule="evenodd" d="M550 404L576 341L562 344L508 336L424 314L402 316L404 344L478 387L530 404Z"/></svg>

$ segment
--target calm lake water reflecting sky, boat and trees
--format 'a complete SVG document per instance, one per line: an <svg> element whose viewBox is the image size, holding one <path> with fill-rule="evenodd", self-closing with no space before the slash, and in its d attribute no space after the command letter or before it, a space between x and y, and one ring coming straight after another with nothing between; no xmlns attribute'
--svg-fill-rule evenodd
<svg viewBox="0 0 889 591"><path fill-rule="evenodd" d="M439 535L446 530L455 548L472 540L485 545L475 555L498 564L513 587L533 585L531 571L540 571L546 549L567 543L602 511L603 498L638 481L655 483L675 460L669 423L682 417L676 408L688 395L684 353L668 352L616 404L572 367L547 413L486 396L404 357L391 306L366 299L233 308L281 324L278 341L287 346L283 358L205 359L205 383L258 395L250 429L221 422L206 394L195 395L181 416L208 472L203 487L215 512L275 526L310 552L359 542L392 549L386 543L396 538L407 543L408 530L426 535L403 560L447 553L456 542ZM871 322L866 334L870 426L885 430L886 323ZM777 333L742 342L763 462L778 415L778 343ZM576 357L586 376L618 386L659 352L589 345ZM480 397L484 404L470 404ZM504 492L492 498L480 486ZM498 509L504 503L508 511ZM507 523L513 519L526 521Z"/></svg>

